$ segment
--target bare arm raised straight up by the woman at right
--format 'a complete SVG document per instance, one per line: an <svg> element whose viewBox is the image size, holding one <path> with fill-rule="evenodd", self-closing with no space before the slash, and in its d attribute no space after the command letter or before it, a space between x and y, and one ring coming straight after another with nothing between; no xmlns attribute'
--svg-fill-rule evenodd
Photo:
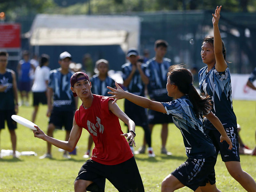
<svg viewBox="0 0 256 192"><path fill-rule="evenodd" d="M215 60L216 65L215 68L218 72L223 72L228 67L224 56L222 54L222 41L220 36L220 30L219 30L219 20L220 20L220 10L221 6L217 6L217 9L215 10L215 14L212 14L212 24L213 24L213 36L214 36L214 54L215 54Z"/></svg>

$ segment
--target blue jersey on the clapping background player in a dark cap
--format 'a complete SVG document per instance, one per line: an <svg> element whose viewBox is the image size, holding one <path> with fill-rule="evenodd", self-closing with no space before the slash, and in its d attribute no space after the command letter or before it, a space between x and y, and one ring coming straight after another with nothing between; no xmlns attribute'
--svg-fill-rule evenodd
<svg viewBox="0 0 256 192"><path fill-rule="evenodd" d="M141 64L141 69L145 73L145 75L148 76L148 74L146 74L147 68L146 68L145 64ZM127 77L132 72L132 64L125 63L124 65L122 65L122 72L123 72L123 75L122 75L123 80L127 79ZM138 69L136 69L135 73L132 76L130 84L126 88L127 88L127 91L130 93L139 95L141 97L145 96L145 94L144 94L145 84L143 83L143 81L141 79L140 72L138 71Z"/></svg>

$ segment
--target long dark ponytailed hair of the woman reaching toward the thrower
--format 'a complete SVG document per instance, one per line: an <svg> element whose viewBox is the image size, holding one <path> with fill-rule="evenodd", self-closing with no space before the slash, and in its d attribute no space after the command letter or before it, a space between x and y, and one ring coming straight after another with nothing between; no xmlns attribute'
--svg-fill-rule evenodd
<svg viewBox="0 0 256 192"><path fill-rule="evenodd" d="M193 104L197 117L199 117L200 114L207 114L208 111L212 108L212 103L209 99L209 96L201 97L198 94L192 84L192 74L182 65L170 66L169 72L167 73L167 78L168 77L170 79L170 83L176 85L180 92L188 95L189 100Z"/></svg>

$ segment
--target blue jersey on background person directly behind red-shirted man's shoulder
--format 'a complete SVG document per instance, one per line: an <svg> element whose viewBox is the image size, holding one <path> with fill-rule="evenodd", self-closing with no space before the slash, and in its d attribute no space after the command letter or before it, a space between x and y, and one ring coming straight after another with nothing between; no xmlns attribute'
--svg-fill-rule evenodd
<svg viewBox="0 0 256 192"><path fill-rule="evenodd" d="M96 74L96 75L92 76L90 81L92 83L91 91L93 94L103 95L103 96L112 96L111 94L108 94L109 89L107 88L107 86L109 86L109 87L116 86L115 81L112 78L107 76L104 81L101 81L99 79L99 75Z"/></svg>

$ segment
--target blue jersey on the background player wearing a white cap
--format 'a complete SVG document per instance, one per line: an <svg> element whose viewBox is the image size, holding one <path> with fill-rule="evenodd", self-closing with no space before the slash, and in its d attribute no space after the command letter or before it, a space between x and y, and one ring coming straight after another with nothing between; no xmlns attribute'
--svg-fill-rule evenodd
<svg viewBox="0 0 256 192"><path fill-rule="evenodd" d="M75 110L75 100L70 89L70 77L72 75L72 71L63 75L60 73L60 68L50 71L48 87L53 90L53 110Z"/></svg>

